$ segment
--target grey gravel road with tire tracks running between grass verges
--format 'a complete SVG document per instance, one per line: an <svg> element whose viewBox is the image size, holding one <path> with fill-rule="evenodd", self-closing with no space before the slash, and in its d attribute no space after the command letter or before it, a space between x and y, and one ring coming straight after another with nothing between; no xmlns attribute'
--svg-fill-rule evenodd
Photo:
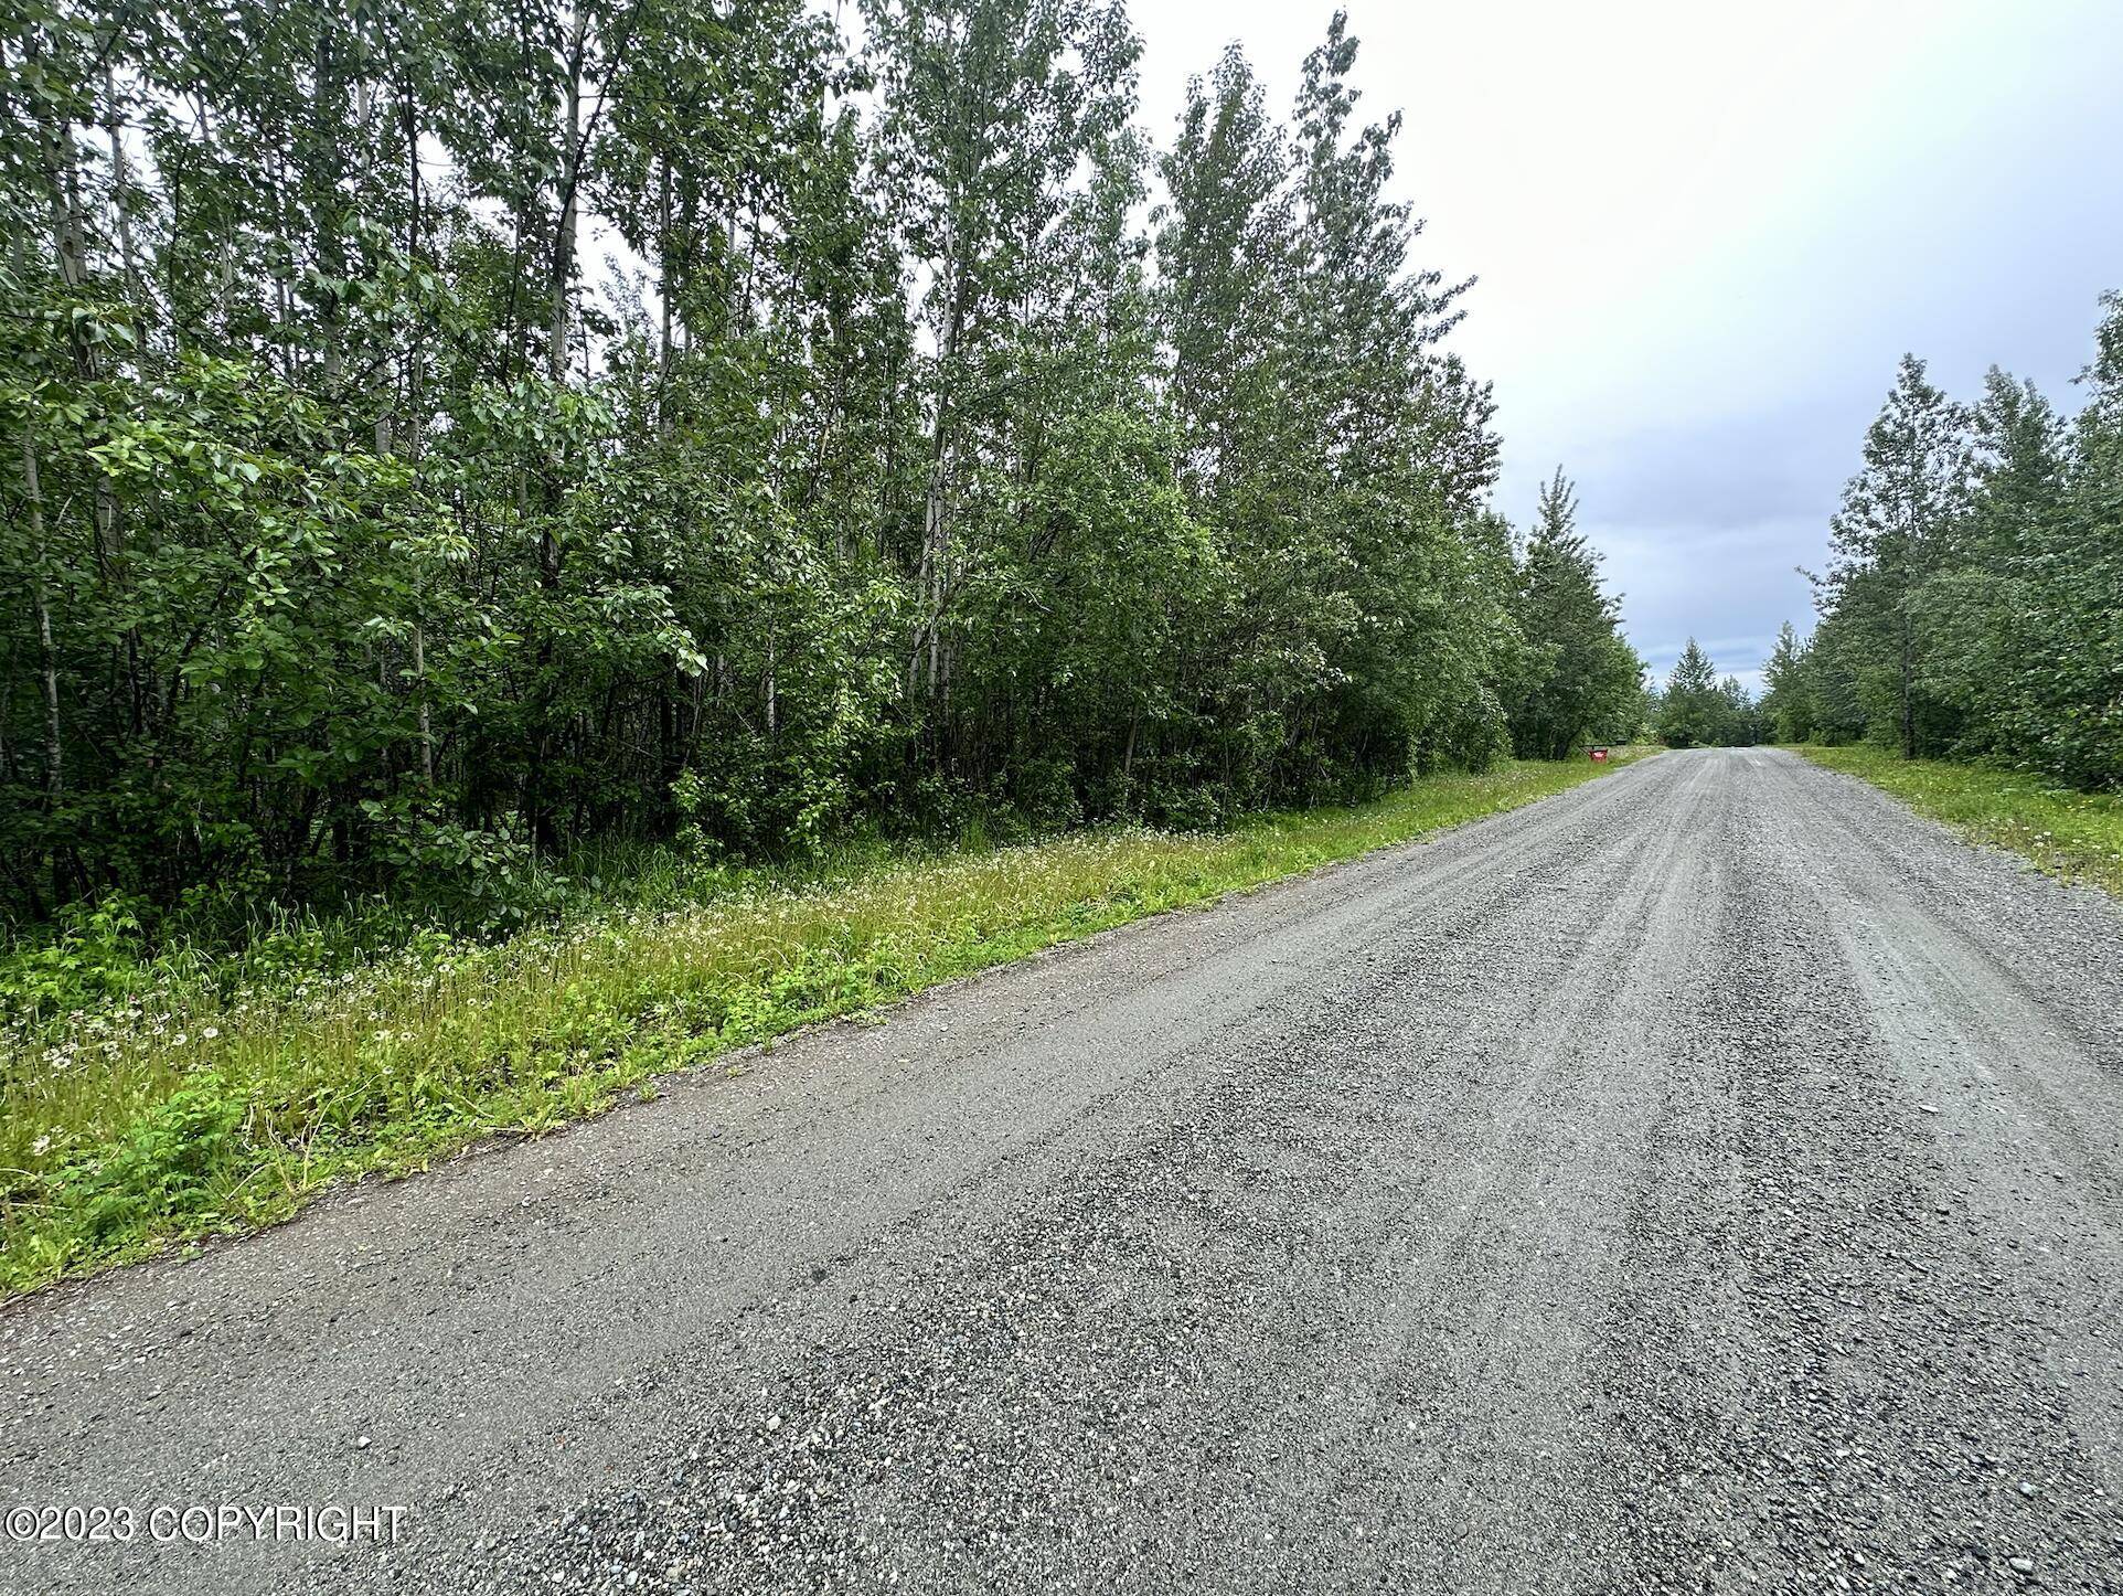
<svg viewBox="0 0 2123 1596"><path fill-rule="evenodd" d="M2117 1592L2119 1017L1667 753L17 1303L0 1585Z"/></svg>

